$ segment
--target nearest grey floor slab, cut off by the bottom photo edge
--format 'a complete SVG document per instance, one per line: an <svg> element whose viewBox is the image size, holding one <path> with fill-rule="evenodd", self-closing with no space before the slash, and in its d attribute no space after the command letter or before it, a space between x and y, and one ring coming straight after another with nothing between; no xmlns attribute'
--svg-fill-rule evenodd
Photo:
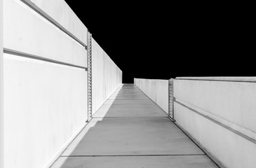
<svg viewBox="0 0 256 168"><path fill-rule="evenodd" d="M212 168L214 163L206 155L173 156L116 156L116 157L62 157L55 167L99 168Z"/></svg>

